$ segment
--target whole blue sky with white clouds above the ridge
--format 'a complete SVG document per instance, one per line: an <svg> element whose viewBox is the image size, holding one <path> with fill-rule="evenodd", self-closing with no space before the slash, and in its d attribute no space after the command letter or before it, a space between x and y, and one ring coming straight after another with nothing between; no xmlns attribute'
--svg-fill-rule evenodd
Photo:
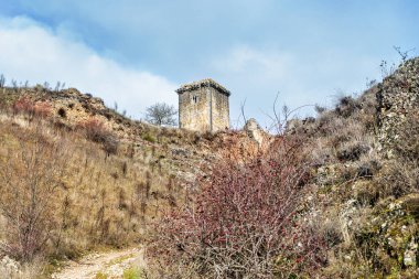
<svg viewBox="0 0 419 279"><path fill-rule="evenodd" d="M417 0L0 0L0 74L56 82L140 119L182 84L232 92L230 122L332 106L419 53ZM411 51L410 51L411 50Z"/></svg>

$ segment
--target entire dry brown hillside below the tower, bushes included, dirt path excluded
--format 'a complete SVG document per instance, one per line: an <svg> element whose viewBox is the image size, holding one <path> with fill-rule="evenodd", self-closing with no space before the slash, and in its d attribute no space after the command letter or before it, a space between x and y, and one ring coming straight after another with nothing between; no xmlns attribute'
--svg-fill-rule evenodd
<svg viewBox="0 0 419 279"><path fill-rule="evenodd" d="M0 94L1 253L44 276L148 244L147 278L419 277L419 58L261 146Z"/></svg>

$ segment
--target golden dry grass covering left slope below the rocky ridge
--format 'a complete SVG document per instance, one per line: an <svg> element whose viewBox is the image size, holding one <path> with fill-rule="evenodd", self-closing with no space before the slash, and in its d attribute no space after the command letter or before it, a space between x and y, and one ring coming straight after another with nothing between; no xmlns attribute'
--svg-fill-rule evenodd
<svg viewBox="0 0 419 279"><path fill-rule="evenodd" d="M173 178L151 167L151 149L125 144L109 155L83 132L2 116L0 236L3 251L15 258L74 258L95 247L132 245L176 195L168 186Z"/></svg>

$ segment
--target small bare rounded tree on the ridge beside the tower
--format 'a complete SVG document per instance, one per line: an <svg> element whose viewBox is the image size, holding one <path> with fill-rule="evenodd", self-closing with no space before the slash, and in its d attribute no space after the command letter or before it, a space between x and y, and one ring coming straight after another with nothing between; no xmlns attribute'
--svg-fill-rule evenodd
<svg viewBox="0 0 419 279"><path fill-rule="evenodd" d="M157 103L146 109L146 121L153 125L175 126L178 110L165 103Z"/></svg>

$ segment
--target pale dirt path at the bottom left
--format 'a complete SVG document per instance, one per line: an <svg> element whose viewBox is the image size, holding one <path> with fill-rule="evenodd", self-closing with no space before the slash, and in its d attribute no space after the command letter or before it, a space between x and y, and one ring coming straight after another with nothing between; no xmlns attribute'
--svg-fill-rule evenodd
<svg viewBox="0 0 419 279"><path fill-rule="evenodd" d="M77 261L68 261L64 268L54 273L54 279L94 279L122 278L127 269L144 267L141 249L114 250L89 254Z"/></svg>

